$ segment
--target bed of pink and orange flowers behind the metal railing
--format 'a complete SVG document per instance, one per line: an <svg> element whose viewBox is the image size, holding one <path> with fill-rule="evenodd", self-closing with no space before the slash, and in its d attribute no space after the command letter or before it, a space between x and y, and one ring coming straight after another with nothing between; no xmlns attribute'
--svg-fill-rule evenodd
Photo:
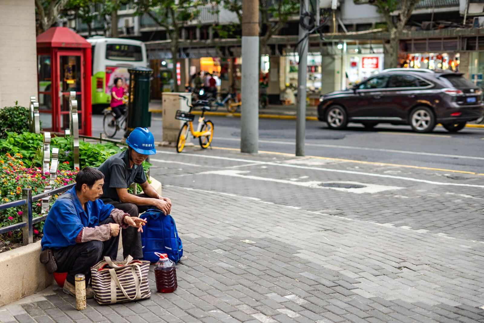
<svg viewBox="0 0 484 323"><path fill-rule="evenodd" d="M31 188L32 195L42 193L44 187L49 185L49 173L42 173L39 167L27 168L24 161L22 161L21 154L4 154L0 157L0 199L2 203L22 199L22 188ZM57 171L57 179L53 188L65 186L75 182L77 170L70 170L68 161L59 165ZM52 197L52 202L58 198L57 195ZM40 201L36 201L32 205L33 216L41 215ZM11 224L22 222L22 207L17 206L0 211L0 227L6 227ZM34 224L34 236L40 237L44 222ZM0 246L2 249L8 250L22 241L22 231L9 231L7 234L0 235L0 240L4 243Z"/></svg>

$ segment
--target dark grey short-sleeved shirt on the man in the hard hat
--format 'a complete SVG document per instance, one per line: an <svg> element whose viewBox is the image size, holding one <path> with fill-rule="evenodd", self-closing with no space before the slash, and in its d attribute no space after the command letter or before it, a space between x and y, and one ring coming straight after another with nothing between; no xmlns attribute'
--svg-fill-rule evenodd
<svg viewBox="0 0 484 323"><path fill-rule="evenodd" d="M120 201L116 188L128 188L133 183L143 184L146 182L146 175L143 171L143 166L133 165L129 167L128 150L121 153L114 154L107 158L104 163L99 166L104 174L103 195L101 200L103 202Z"/></svg>

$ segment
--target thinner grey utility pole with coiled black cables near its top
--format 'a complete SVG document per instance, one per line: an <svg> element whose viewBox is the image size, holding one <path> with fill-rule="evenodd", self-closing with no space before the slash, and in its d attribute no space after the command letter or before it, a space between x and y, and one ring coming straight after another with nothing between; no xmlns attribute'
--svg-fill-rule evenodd
<svg viewBox="0 0 484 323"><path fill-rule="evenodd" d="M309 0L301 0L299 14L309 9ZM299 25L299 66L298 66L298 111L296 120L296 156L304 156L304 136L306 133L306 74L307 47L309 39L301 41L306 30ZM242 62L243 63L243 62Z"/></svg>

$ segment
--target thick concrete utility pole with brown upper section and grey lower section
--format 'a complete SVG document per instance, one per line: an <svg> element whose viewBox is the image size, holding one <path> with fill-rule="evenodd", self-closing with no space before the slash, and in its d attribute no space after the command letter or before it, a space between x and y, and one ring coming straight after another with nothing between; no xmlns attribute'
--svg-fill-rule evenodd
<svg viewBox="0 0 484 323"><path fill-rule="evenodd" d="M242 1L241 153L259 150L259 2Z"/></svg>

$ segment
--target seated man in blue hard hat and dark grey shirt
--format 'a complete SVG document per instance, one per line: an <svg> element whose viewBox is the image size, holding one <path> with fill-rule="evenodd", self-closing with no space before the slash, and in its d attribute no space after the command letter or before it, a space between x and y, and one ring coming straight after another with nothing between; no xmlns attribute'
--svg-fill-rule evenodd
<svg viewBox="0 0 484 323"><path fill-rule="evenodd" d="M171 201L162 197L148 183L143 161L148 155L156 154L154 138L147 128L136 128L126 139L128 149L114 154L101 164L99 170L104 174L103 195L101 200L112 204L130 216L138 216L149 209L159 209L170 214ZM127 188L137 183L143 189L141 194L130 194ZM131 255L134 259L143 258L141 233L137 228L122 229L123 257Z"/></svg>

